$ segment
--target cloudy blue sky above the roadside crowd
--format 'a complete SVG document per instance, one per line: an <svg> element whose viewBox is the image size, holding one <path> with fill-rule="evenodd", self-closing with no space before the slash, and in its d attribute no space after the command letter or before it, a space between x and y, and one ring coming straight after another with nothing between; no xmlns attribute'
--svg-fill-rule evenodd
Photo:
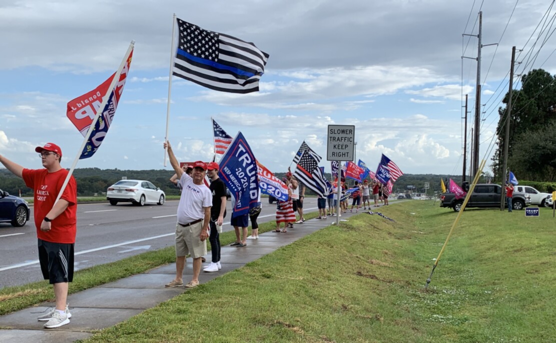
<svg viewBox="0 0 556 343"><path fill-rule="evenodd" d="M34 147L52 141L63 150L62 165L71 166L82 136L66 117L67 101L105 81L135 40L112 127L96 155L77 167L164 168L176 13L270 54L259 93L231 95L173 78L168 138L178 160L212 158L214 117L230 135L244 133L257 159L275 172L287 169L304 140L324 157L321 165L329 172L326 127L355 125L356 157L371 168L384 153L405 173L457 175L463 163L462 94L469 93L472 109L476 83L476 62L462 62L461 56L476 57L477 50L476 38L461 34L477 34L480 9L483 44L500 43L483 48L481 64L480 156L489 158L512 46L524 48L517 73L555 72L550 53L556 38L548 37L542 48L534 45L545 12L550 9L548 24L556 13L549 6L540 0L4 0L0 154L40 167Z"/></svg>

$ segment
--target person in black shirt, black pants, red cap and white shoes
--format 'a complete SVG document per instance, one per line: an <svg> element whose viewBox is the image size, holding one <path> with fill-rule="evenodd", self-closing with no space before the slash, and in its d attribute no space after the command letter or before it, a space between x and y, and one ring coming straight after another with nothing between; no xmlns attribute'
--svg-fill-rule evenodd
<svg viewBox="0 0 556 343"><path fill-rule="evenodd" d="M226 217L226 185L218 176L220 166L216 162L210 162L207 167L207 175L210 178L210 191L212 193L212 207L210 208L210 251L212 261L203 271L214 272L222 269L220 265L220 232L222 223Z"/></svg>

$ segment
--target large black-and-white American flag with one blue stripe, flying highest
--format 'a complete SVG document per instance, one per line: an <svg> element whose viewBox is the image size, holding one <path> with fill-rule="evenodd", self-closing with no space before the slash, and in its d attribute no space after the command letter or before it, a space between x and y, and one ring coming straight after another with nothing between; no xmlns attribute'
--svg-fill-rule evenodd
<svg viewBox="0 0 556 343"><path fill-rule="evenodd" d="M215 91L259 91L269 54L253 43L176 20L180 34L173 75Z"/></svg>

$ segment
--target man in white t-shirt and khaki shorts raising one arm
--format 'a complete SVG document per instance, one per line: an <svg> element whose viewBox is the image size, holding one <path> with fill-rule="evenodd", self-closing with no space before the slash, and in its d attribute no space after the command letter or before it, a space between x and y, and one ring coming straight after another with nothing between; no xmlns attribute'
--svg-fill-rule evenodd
<svg viewBox="0 0 556 343"><path fill-rule="evenodd" d="M207 165L202 161L193 163L193 173L192 176L189 176L180 168L180 163L173 154L170 142L164 142L163 146L168 149L170 164L180 178L183 187L180 202L177 205L176 277L164 286L166 288L183 286L184 289L192 289L199 285L201 257L207 253L206 239L209 238L212 194L209 187L203 182ZM184 286L182 275L187 254L190 254L193 259L193 276L191 281Z"/></svg>

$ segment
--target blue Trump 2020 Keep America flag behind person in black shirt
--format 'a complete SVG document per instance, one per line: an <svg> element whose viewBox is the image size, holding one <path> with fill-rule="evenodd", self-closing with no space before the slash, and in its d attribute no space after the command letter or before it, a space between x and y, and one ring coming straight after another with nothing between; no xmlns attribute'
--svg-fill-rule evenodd
<svg viewBox="0 0 556 343"><path fill-rule="evenodd" d="M245 215L251 208L257 206L259 200L257 163L241 132L237 133L222 156L218 175L236 199L236 204L232 208L232 217Z"/></svg>

